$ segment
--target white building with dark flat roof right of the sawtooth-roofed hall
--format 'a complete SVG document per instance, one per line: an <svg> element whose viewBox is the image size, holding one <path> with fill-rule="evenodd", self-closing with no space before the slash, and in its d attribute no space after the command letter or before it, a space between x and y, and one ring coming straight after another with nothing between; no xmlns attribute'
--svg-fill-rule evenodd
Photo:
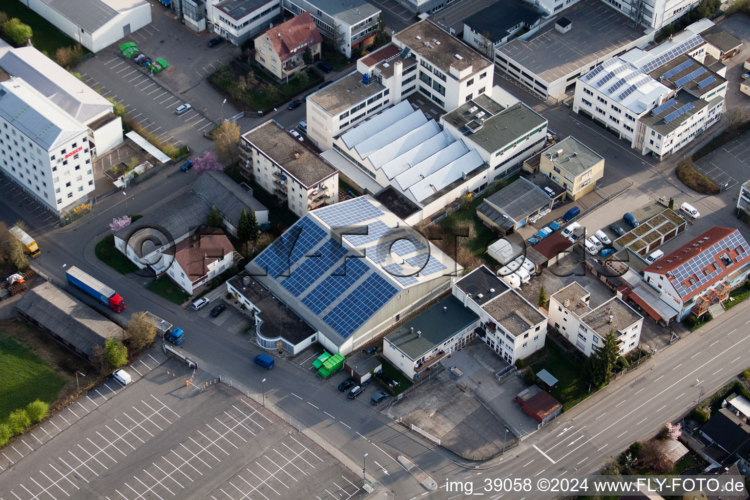
<svg viewBox="0 0 750 500"><path fill-rule="evenodd" d="M526 106L504 106L480 94L440 117L443 130L478 151L490 167L490 181L520 170L523 160L544 147L547 120Z"/></svg>

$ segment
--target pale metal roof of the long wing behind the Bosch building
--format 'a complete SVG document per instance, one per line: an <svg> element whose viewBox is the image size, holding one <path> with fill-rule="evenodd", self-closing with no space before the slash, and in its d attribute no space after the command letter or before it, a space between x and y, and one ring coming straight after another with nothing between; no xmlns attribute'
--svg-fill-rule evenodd
<svg viewBox="0 0 750 500"><path fill-rule="evenodd" d="M83 124L112 110L112 103L32 46L10 49L0 67L26 80Z"/></svg>

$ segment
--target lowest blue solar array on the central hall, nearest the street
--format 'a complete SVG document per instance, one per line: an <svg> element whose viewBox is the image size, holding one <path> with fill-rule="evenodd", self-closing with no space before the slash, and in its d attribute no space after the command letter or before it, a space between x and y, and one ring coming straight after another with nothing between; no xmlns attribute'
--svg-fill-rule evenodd
<svg viewBox="0 0 750 500"><path fill-rule="evenodd" d="M398 289L380 274L372 274L323 316L323 321L341 337L347 338L396 295L396 292Z"/></svg>

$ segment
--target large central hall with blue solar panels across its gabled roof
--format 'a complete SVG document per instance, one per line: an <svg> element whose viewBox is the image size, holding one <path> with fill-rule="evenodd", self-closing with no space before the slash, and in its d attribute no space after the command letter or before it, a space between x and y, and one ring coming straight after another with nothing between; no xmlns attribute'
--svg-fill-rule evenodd
<svg viewBox="0 0 750 500"><path fill-rule="evenodd" d="M447 292L460 266L365 195L309 211L246 271L304 320L323 348L347 355ZM263 309L235 290L246 307ZM264 336L284 337L285 349L311 342L293 331Z"/></svg>

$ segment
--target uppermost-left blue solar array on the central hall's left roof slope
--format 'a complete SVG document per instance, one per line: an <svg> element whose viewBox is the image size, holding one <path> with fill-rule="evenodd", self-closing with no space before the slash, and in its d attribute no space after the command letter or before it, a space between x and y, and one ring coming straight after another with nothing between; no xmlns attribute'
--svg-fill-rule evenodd
<svg viewBox="0 0 750 500"><path fill-rule="evenodd" d="M310 217L303 217L287 229L254 259L274 279L289 274L290 268L326 238L326 232Z"/></svg>

